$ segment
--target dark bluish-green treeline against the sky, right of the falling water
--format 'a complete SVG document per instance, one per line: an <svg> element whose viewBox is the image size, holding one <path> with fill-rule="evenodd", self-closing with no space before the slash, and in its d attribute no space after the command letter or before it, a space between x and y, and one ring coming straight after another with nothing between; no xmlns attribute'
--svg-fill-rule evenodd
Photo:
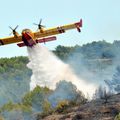
<svg viewBox="0 0 120 120"><path fill-rule="evenodd" d="M76 45L74 47L57 46L53 51L59 58L66 60L73 53L79 53L86 59L97 58L114 58L117 57L120 50L120 41L108 43L105 40L94 41L83 46Z"/></svg>

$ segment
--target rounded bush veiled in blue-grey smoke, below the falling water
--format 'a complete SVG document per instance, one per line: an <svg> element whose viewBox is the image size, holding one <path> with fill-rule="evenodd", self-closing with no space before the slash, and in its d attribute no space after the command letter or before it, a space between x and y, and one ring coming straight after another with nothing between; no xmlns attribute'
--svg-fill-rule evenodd
<svg viewBox="0 0 120 120"><path fill-rule="evenodd" d="M52 107L56 107L58 102L63 100L73 101L73 104L78 105L85 101L85 96L71 82L63 80L57 83L56 89L49 96L49 101Z"/></svg>

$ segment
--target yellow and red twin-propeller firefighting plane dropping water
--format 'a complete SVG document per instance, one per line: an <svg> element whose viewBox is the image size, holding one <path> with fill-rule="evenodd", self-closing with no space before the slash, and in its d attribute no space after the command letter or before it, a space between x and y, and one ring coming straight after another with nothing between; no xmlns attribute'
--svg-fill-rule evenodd
<svg viewBox="0 0 120 120"><path fill-rule="evenodd" d="M76 28L78 32L81 32L80 28L82 27L82 19L79 22L76 22L73 24L63 25L63 26L50 28L50 29L44 29L45 26L41 25L41 22L42 22L42 19L40 20L39 24L34 23L35 25L38 26L39 31L32 32L30 29L24 29L21 35L19 35L18 32L16 32L18 25L16 26L15 29L12 29L10 27L14 36L1 38L0 45L17 43L19 47L23 47L23 46L33 47L37 43L45 43L48 41L56 40L56 36L52 36L52 35L65 33L66 30Z"/></svg>

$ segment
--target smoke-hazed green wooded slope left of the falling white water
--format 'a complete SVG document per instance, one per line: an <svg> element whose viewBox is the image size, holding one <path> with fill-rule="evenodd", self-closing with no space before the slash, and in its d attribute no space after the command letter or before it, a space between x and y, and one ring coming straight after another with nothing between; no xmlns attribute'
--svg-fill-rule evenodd
<svg viewBox="0 0 120 120"><path fill-rule="evenodd" d="M26 67L27 57L0 59L0 106L13 101L20 102L29 91L32 72Z"/></svg>

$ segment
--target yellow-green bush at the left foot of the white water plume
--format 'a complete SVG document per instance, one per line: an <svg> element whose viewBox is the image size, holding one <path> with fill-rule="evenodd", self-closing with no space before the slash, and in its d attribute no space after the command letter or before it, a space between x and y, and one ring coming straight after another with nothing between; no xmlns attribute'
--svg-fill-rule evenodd
<svg viewBox="0 0 120 120"><path fill-rule="evenodd" d="M22 103L25 106L30 106L36 111L41 111L42 107L48 109L49 105L46 101L48 95L51 93L51 90L47 87L36 86L33 91L28 92L22 99ZM44 102L48 106L44 106ZM48 108L47 108L48 107Z"/></svg>

